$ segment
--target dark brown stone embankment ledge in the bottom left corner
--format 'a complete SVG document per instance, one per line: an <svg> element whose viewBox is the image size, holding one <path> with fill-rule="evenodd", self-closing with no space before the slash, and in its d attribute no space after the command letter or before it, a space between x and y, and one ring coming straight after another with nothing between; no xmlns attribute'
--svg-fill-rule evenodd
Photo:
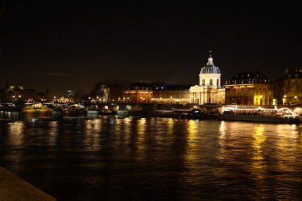
<svg viewBox="0 0 302 201"><path fill-rule="evenodd" d="M55 200L10 171L0 167L0 200Z"/></svg>

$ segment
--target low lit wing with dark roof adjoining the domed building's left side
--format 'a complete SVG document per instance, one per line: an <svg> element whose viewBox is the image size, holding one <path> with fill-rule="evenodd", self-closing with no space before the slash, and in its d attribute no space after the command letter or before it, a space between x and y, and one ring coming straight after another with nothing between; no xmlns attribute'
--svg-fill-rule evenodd
<svg viewBox="0 0 302 201"><path fill-rule="evenodd" d="M188 104L190 84L159 84L153 90L152 102Z"/></svg>

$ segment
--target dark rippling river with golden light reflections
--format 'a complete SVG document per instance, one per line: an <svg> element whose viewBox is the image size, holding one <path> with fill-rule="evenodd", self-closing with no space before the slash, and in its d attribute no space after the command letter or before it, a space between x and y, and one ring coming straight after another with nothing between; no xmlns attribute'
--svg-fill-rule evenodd
<svg viewBox="0 0 302 201"><path fill-rule="evenodd" d="M58 200L301 200L302 125L27 114L0 165Z"/></svg>

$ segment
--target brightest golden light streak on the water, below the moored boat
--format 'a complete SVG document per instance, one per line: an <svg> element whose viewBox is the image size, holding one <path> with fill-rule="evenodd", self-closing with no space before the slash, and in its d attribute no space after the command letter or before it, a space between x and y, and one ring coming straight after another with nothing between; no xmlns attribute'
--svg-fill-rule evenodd
<svg viewBox="0 0 302 201"><path fill-rule="evenodd" d="M253 141L251 143L254 151L251 157L252 174L256 179L263 179L265 175L266 164L263 161L262 145L265 142L265 128L262 124L258 124L254 128Z"/></svg>

